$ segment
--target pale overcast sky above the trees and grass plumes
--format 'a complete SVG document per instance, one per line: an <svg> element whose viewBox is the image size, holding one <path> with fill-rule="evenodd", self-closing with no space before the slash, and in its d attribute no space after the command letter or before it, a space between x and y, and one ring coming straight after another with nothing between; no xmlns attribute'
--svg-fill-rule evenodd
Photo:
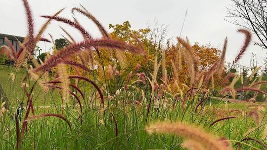
<svg viewBox="0 0 267 150"><path fill-rule="evenodd" d="M185 11L187 17L181 37L189 38L190 43L199 42L202 45L210 43L222 49L223 39L228 37L226 61L231 62L238 53L244 35L237 33L240 27L226 22L226 6L231 0L29 0L33 10L35 29L38 31L45 19L40 15L52 15L59 9L66 7L60 16L72 19L70 9L74 6L84 5L103 25L122 24L130 21L133 29L146 28L150 23L153 27L155 18L158 24L169 26L168 37L177 37L180 33ZM97 28L84 16L76 14L75 17L95 37L100 37ZM25 37L27 33L26 15L21 0L1 0L0 33ZM58 25L66 28L73 37L81 40L73 28L66 24L52 21L45 32L45 38L50 33L55 39L62 38L64 34ZM254 36L254 40L257 38ZM44 51L48 51L50 44L39 43ZM256 54L259 65L267 57L267 50L251 44L240 64L250 65L250 54Z"/></svg>

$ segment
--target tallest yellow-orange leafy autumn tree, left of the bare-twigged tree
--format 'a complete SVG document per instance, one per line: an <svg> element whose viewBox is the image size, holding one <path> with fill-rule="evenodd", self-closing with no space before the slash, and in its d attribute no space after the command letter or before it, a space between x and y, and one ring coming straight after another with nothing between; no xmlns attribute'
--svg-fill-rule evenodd
<svg viewBox="0 0 267 150"><path fill-rule="evenodd" d="M129 74L129 72L134 71L134 68L137 64L141 64L140 71L145 72L145 73L151 73L151 66L153 66L153 55L151 55L151 49L153 49L153 43L149 37L150 29L145 28L145 29L139 29L139 30L133 30L132 26L129 21L125 21L123 24L117 24L117 25L112 25L109 24L109 29L112 29L113 31L110 33L110 38L117 39L120 41L124 41L126 43L135 45L139 47L139 44L136 40L136 38L139 39L139 41L142 43L142 46L144 50L146 51L146 60L143 56L132 54L130 52L119 52L115 51L115 56L116 59L118 60L118 64L120 67L124 68L124 72L126 74ZM106 50L101 50L100 51L101 56L104 56L105 58L104 65L107 66L108 64L111 65L112 59L109 58L108 52ZM119 61L124 61L123 64L120 63ZM118 68L120 70L121 68ZM124 73L122 73L123 75Z"/></svg>

